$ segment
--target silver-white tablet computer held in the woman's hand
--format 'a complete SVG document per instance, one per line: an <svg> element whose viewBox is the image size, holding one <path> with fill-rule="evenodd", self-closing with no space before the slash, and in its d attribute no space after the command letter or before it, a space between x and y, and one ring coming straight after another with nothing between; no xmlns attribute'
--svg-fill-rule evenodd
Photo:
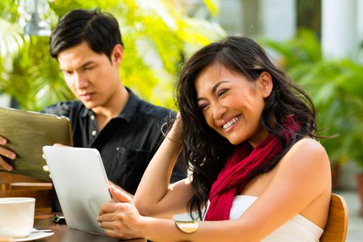
<svg viewBox="0 0 363 242"><path fill-rule="evenodd" d="M97 216L111 201L97 149L44 146L44 156L68 227L104 234Z"/></svg>

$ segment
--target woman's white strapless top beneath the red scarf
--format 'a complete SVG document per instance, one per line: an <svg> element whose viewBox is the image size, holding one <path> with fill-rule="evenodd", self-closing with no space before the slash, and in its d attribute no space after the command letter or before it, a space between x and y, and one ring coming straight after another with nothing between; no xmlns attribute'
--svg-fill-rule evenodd
<svg viewBox="0 0 363 242"><path fill-rule="evenodd" d="M257 196L235 196L230 211L230 219L239 218L257 200ZM209 202L207 204L209 207ZM324 230L301 214L297 214L269 234L263 242L319 242Z"/></svg>

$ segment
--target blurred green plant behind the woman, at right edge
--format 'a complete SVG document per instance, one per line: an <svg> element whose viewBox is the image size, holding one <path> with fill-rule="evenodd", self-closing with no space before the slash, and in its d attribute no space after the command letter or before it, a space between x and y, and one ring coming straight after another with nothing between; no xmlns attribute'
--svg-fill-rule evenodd
<svg viewBox="0 0 363 242"><path fill-rule="evenodd" d="M277 54L277 64L312 97L319 135L331 162L355 160L363 167L363 66L350 59L322 57L319 40L301 29L286 42L261 39Z"/></svg>

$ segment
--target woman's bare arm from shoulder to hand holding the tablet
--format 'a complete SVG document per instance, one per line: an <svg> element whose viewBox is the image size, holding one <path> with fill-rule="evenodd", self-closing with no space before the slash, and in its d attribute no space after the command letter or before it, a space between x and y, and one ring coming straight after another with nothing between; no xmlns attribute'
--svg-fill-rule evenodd
<svg viewBox="0 0 363 242"><path fill-rule="evenodd" d="M261 241L317 199L330 196L330 179L324 148L315 140L304 139L283 157L266 191L237 220L202 221L196 232L185 234L172 220L140 216L132 203L107 203L102 206L98 221L106 234L124 239ZM325 219L328 202L319 211L319 216Z"/></svg>

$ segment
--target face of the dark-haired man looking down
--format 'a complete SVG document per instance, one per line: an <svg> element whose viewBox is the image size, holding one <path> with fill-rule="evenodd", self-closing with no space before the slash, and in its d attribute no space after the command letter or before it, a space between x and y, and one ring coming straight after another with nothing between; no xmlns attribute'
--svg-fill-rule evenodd
<svg viewBox="0 0 363 242"><path fill-rule="evenodd" d="M122 47L116 46L111 60L95 53L85 41L57 56L69 89L88 109L106 107L121 85L119 66Z"/></svg>

